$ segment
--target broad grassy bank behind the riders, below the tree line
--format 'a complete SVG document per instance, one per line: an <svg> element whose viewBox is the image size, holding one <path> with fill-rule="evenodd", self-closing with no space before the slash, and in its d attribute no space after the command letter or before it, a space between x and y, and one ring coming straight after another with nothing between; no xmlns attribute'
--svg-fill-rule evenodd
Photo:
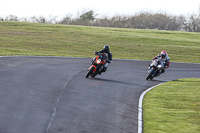
<svg viewBox="0 0 200 133"><path fill-rule="evenodd" d="M200 63L200 34L159 30L0 22L0 55L93 57L104 45L113 58Z"/></svg>

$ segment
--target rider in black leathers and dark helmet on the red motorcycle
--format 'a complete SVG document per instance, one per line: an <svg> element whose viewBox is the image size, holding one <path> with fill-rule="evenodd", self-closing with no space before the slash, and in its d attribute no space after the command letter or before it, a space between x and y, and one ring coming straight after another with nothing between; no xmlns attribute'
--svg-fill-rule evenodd
<svg viewBox="0 0 200 133"><path fill-rule="evenodd" d="M112 63L112 53L110 52L110 47L108 45L105 45L102 50L98 52L96 51L94 54L98 55L99 53L104 53L107 56L106 64L104 64L103 69L101 71L101 72L105 72L107 70L108 63ZM94 61L95 61L95 58L92 59L91 64L93 64Z"/></svg>

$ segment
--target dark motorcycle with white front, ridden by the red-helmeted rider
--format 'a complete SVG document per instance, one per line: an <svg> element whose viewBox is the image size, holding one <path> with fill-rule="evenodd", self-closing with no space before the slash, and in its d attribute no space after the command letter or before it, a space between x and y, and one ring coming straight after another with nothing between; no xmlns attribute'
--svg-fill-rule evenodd
<svg viewBox="0 0 200 133"><path fill-rule="evenodd" d="M161 74L162 69L164 69L164 63L161 59L154 60L149 66L149 71L146 76L146 80L153 79Z"/></svg>

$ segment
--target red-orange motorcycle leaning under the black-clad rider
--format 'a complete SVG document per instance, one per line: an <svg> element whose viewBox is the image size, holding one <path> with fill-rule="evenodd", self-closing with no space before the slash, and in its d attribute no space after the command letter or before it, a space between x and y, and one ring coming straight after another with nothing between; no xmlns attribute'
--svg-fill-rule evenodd
<svg viewBox="0 0 200 133"><path fill-rule="evenodd" d="M106 54L99 53L98 56L92 61L91 66L88 68L88 72L86 73L85 77L95 77L97 74L100 74L104 64L106 64L106 59Z"/></svg>

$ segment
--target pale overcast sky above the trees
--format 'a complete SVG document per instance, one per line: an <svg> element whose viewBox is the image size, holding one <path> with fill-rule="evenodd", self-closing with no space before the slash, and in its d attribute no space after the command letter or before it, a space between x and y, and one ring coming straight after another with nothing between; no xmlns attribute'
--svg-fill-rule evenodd
<svg viewBox="0 0 200 133"><path fill-rule="evenodd" d="M0 0L0 16L63 17L84 10L94 10L99 16L132 15L140 11L188 15L199 12L200 0Z"/></svg>

